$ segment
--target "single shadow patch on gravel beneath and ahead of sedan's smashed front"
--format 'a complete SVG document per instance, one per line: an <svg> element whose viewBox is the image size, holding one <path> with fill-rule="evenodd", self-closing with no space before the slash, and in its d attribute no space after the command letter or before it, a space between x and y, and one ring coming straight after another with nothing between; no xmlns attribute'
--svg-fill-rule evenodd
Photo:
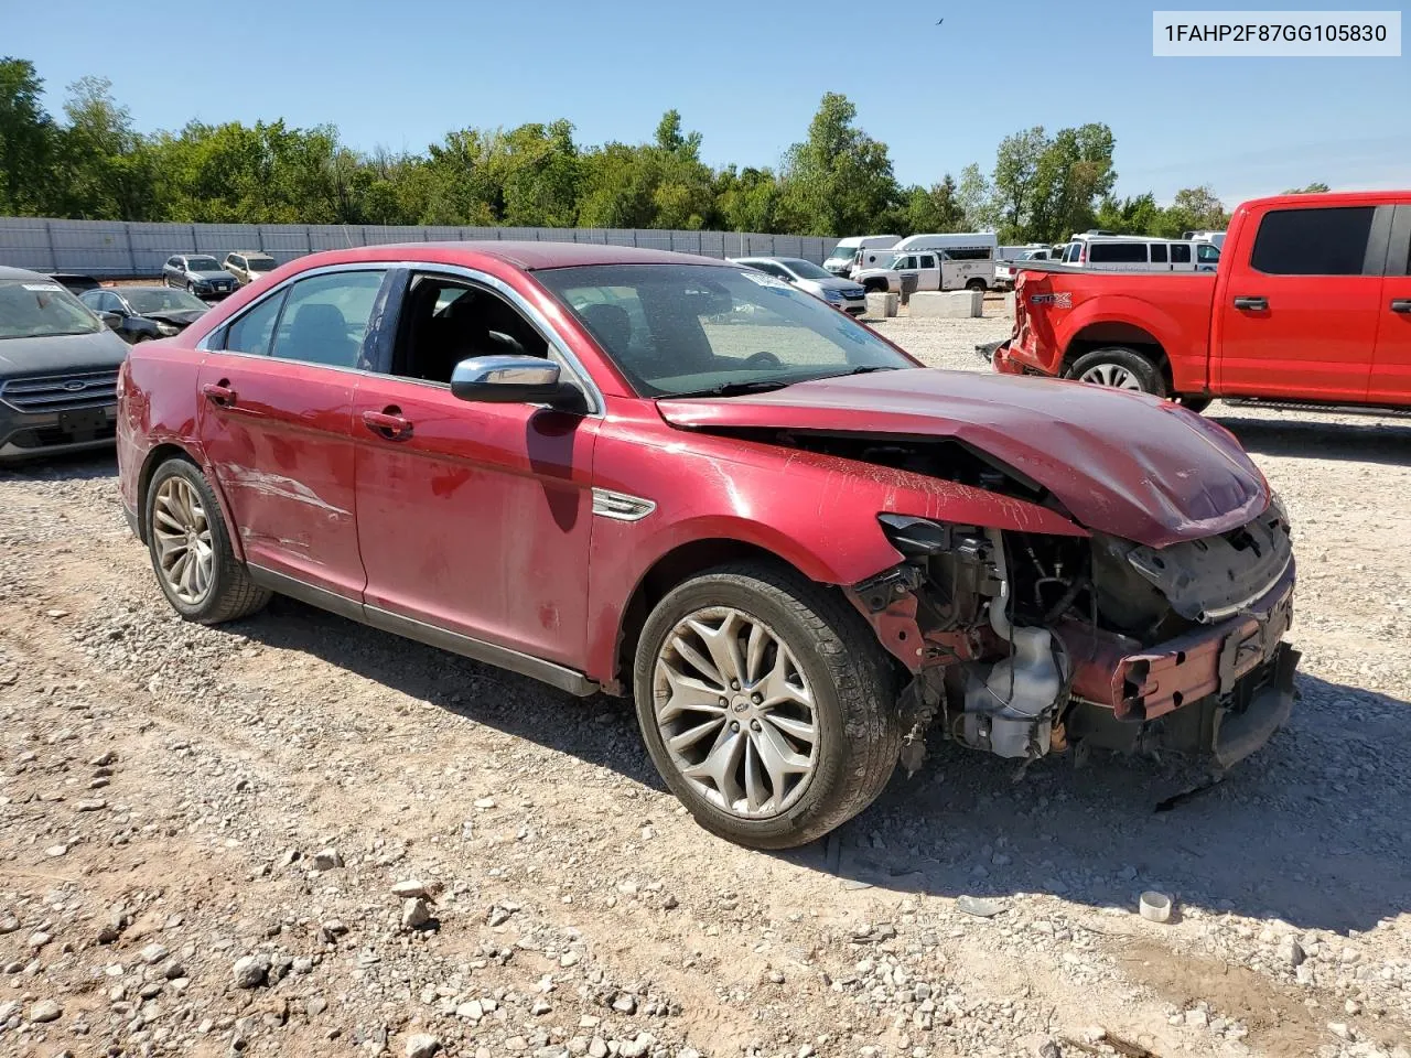
<svg viewBox="0 0 1411 1058"><path fill-rule="evenodd" d="M1136 911L1144 889L1212 913L1369 930L1411 911L1411 704L1298 681L1288 728L1223 782L1175 762L1094 755L1016 769L938 745L914 777L786 859L845 884L1003 900L1051 893Z"/></svg>

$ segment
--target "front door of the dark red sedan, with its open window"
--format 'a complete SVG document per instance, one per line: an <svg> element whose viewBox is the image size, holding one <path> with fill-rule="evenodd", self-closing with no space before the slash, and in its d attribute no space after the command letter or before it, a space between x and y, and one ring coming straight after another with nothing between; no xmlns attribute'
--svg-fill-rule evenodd
<svg viewBox="0 0 1411 1058"><path fill-rule="evenodd" d="M365 602L581 670L600 420L452 395L460 360L507 351L549 343L484 286L411 276L388 370L353 409Z"/></svg>

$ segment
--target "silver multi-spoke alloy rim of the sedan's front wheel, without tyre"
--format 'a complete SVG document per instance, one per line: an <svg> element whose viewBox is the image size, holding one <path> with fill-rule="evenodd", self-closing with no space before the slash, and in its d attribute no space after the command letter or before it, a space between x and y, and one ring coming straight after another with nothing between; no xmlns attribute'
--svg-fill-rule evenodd
<svg viewBox="0 0 1411 1058"><path fill-rule="evenodd" d="M779 815L817 770L813 688L783 639L739 609L677 622L656 656L653 701L672 763L732 815Z"/></svg>

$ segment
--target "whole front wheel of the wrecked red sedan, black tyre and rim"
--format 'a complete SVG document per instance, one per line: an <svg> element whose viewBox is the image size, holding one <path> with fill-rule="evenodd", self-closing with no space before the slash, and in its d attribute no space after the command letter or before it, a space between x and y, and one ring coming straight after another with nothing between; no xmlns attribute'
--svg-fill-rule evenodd
<svg viewBox="0 0 1411 1058"><path fill-rule="evenodd" d="M763 563L708 570L646 619L636 715L662 779L739 845L804 845L882 793L902 745L892 667L828 590Z"/></svg>

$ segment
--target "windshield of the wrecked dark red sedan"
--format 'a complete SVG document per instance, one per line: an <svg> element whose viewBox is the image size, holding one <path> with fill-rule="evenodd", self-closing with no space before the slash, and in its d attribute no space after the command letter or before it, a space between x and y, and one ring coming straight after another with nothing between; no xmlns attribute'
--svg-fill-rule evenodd
<svg viewBox="0 0 1411 1058"><path fill-rule="evenodd" d="M535 272L643 396L765 389L917 364L782 279L711 265Z"/></svg>

